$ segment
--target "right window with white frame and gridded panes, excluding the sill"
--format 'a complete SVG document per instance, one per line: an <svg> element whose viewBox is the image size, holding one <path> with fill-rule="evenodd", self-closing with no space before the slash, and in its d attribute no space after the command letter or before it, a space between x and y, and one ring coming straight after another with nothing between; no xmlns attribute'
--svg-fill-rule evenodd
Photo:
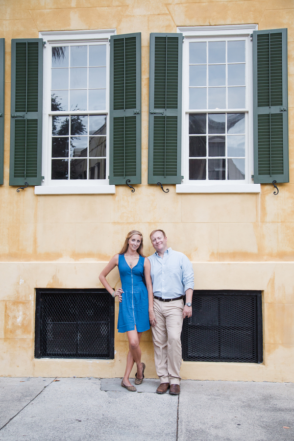
<svg viewBox="0 0 294 441"><path fill-rule="evenodd" d="M185 38L183 183L250 182L248 37Z"/></svg>

